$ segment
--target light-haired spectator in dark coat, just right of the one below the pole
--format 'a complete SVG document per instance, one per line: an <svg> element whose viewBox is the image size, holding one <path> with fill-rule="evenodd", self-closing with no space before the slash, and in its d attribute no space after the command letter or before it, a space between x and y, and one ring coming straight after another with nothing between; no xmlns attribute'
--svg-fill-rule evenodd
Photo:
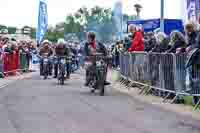
<svg viewBox="0 0 200 133"><path fill-rule="evenodd" d="M170 34L170 43L171 48L167 51L168 53L176 53L176 50L183 53L186 48L186 40L184 35L179 31L173 31Z"/></svg>

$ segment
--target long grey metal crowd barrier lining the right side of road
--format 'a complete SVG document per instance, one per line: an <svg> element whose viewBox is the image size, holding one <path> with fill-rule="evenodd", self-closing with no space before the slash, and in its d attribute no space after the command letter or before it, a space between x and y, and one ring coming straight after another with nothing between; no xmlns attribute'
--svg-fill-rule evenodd
<svg viewBox="0 0 200 133"><path fill-rule="evenodd" d="M200 96L200 64L191 70L193 87L188 92L186 61L185 54L121 53L120 73L132 82L173 93L175 98L179 95Z"/></svg>

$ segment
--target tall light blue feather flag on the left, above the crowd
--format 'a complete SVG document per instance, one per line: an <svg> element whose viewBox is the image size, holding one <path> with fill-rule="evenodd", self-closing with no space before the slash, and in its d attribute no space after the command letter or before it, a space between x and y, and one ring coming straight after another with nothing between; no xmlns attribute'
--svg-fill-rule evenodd
<svg viewBox="0 0 200 133"><path fill-rule="evenodd" d="M36 32L37 43L40 44L48 28L47 0L39 1L38 27Z"/></svg>

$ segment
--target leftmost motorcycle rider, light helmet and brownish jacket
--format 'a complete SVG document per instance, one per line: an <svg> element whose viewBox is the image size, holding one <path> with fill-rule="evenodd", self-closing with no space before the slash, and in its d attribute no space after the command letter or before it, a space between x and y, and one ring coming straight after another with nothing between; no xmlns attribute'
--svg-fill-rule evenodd
<svg viewBox="0 0 200 133"><path fill-rule="evenodd" d="M39 51L39 55L40 56L44 56L44 54L48 54L48 57L52 56L53 55L53 49L51 48L50 46L50 42L48 40L44 40L43 43L42 43L42 47ZM50 63L51 64L51 63ZM50 75L52 75L52 66L50 65ZM43 59L41 59L41 62L40 62L40 75L43 75Z"/></svg>

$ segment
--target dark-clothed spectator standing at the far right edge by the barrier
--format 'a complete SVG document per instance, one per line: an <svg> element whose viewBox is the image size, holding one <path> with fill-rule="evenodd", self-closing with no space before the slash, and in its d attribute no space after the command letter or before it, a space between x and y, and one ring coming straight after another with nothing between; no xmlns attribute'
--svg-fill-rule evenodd
<svg viewBox="0 0 200 133"><path fill-rule="evenodd" d="M186 38L188 41L188 47L187 47L187 53L189 55L189 60L187 62L187 72L189 76L189 91L191 91L192 94L195 94L196 91L199 91L200 89L200 83L199 83L199 75L200 75L200 65L199 65L199 59L200 59L200 33L197 32L197 26L193 23L189 23L186 25ZM197 80L198 79L198 80ZM193 103L197 104L199 101L199 97L194 96L193 97Z"/></svg>

